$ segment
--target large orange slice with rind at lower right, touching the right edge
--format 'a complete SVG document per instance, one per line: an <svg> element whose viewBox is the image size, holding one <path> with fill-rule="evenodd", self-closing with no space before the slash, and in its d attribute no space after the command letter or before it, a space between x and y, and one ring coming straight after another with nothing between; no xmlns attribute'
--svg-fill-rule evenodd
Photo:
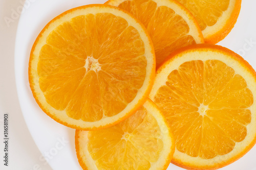
<svg viewBox="0 0 256 170"><path fill-rule="evenodd" d="M157 70L150 98L176 138L172 162L218 169L256 142L256 72L225 47L198 44L173 53Z"/></svg>

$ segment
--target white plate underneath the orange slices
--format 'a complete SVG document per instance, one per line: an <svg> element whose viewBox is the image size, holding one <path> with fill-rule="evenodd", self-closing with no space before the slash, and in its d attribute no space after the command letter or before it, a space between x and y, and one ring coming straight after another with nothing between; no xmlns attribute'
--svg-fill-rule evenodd
<svg viewBox="0 0 256 170"><path fill-rule="evenodd" d="M28 62L30 50L39 32L58 14L82 5L103 4L105 0L27 0L20 16L15 44L15 77L20 107L30 133L42 155L53 169L81 169L78 164L74 135L75 130L56 123L36 104L28 82ZM231 33L219 44L242 55L256 68L256 1L246 0L238 22ZM253 41L254 43L249 43ZM65 142L60 142L65 140ZM223 170L256 169L256 147L240 160L228 165ZM40 167L46 160L38 158ZM170 164L168 169L182 169Z"/></svg>

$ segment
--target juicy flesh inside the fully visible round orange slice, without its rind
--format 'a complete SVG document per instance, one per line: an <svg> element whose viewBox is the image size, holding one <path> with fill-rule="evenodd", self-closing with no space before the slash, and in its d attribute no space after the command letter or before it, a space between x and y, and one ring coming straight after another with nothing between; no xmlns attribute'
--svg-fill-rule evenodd
<svg viewBox="0 0 256 170"><path fill-rule="evenodd" d="M120 25L110 27L112 22ZM103 114L116 115L134 100L146 76L144 54L138 31L125 19L111 13L80 15L47 37L37 65L39 86L53 108L67 108L70 117L95 122ZM110 91L110 101L102 103L106 89L117 83L121 92Z"/></svg>

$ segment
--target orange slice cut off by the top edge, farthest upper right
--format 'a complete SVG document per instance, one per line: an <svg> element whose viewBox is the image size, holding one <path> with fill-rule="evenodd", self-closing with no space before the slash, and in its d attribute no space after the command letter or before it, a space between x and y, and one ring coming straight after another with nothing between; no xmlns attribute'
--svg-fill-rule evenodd
<svg viewBox="0 0 256 170"><path fill-rule="evenodd" d="M206 43L224 39L237 22L242 0L177 0L197 19Z"/></svg>

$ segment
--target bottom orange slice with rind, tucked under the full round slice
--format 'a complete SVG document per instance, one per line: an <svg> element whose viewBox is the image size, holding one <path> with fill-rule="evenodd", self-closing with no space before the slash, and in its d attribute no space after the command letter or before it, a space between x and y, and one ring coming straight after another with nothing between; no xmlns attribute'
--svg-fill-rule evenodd
<svg viewBox="0 0 256 170"><path fill-rule="evenodd" d="M76 131L83 169L166 169L174 139L165 118L150 100L131 117L97 131Z"/></svg>

